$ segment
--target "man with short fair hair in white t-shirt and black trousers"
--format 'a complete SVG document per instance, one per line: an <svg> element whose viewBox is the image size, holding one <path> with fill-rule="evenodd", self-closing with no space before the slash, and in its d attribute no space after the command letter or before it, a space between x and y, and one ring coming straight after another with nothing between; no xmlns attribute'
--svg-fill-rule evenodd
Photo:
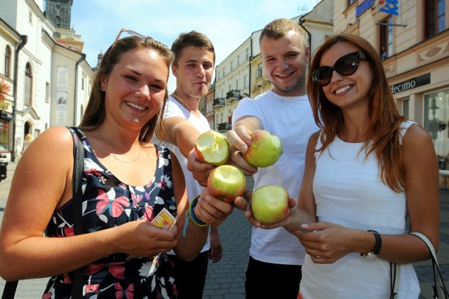
<svg viewBox="0 0 449 299"><path fill-rule="evenodd" d="M232 115L227 138L235 154L232 161L255 178L254 189L263 185L285 187L297 199L307 142L318 131L306 94L306 69L310 49L300 25L279 19L264 27L260 53L271 91L255 99L245 98ZM257 129L278 135L283 154L273 166L254 168L243 160L250 133ZM250 196L248 196L250 198ZM246 298L297 298L304 247L283 227L262 230L253 227L250 260L246 271Z"/></svg>

